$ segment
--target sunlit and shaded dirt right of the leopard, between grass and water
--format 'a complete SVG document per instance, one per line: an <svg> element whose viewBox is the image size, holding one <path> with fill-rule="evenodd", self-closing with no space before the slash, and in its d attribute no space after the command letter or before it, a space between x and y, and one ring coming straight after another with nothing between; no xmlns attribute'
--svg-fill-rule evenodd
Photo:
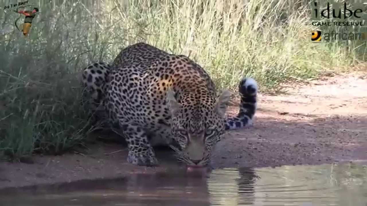
<svg viewBox="0 0 367 206"><path fill-rule="evenodd" d="M367 78L324 77L288 95L260 95L254 126L230 132L217 148L220 167L367 160Z"/></svg>

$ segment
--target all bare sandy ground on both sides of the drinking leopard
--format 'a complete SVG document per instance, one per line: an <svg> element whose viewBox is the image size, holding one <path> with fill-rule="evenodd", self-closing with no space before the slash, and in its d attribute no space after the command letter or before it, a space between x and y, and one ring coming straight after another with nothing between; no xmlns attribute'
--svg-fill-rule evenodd
<svg viewBox="0 0 367 206"><path fill-rule="evenodd" d="M288 86L286 95L258 97L254 126L228 132L217 144L212 167L262 167L367 161L367 75L321 77ZM233 100L236 102L236 100ZM235 114L236 106L228 114ZM156 150L160 166L126 162L124 146L89 145L89 152L34 156L28 163L0 162L0 188L154 173L179 166Z"/></svg>

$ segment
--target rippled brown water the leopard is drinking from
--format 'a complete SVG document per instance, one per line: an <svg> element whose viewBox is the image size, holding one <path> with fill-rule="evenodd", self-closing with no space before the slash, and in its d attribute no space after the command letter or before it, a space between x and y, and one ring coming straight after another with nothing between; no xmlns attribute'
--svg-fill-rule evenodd
<svg viewBox="0 0 367 206"><path fill-rule="evenodd" d="M179 169L125 178L0 190L3 206L367 205L367 166L355 163Z"/></svg>

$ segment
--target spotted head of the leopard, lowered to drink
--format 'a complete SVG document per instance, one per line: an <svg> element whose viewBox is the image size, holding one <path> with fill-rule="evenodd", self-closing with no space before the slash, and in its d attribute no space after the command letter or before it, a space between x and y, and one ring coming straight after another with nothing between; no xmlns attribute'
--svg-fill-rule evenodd
<svg viewBox="0 0 367 206"><path fill-rule="evenodd" d="M168 89L166 102L172 115L171 133L179 160L192 166L209 163L212 148L225 131L225 112L230 92L214 97L206 88L174 93Z"/></svg>

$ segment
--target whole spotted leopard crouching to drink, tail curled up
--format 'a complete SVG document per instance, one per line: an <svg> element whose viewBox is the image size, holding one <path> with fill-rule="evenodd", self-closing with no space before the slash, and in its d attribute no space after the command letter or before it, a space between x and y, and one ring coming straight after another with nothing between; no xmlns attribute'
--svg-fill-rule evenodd
<svg viewBox="0 0 367 206"><path fill-rule="evenodd" d="M207 166L224 133L252 125L257 110L254 78L240 79L239 111L226 115L229 89L219 91L188 56L144 42L121 49L112 63L87 65L82 85L90 109L126 140L133 165L159 165L153 147L164 145L188 166Z"/></svg>

